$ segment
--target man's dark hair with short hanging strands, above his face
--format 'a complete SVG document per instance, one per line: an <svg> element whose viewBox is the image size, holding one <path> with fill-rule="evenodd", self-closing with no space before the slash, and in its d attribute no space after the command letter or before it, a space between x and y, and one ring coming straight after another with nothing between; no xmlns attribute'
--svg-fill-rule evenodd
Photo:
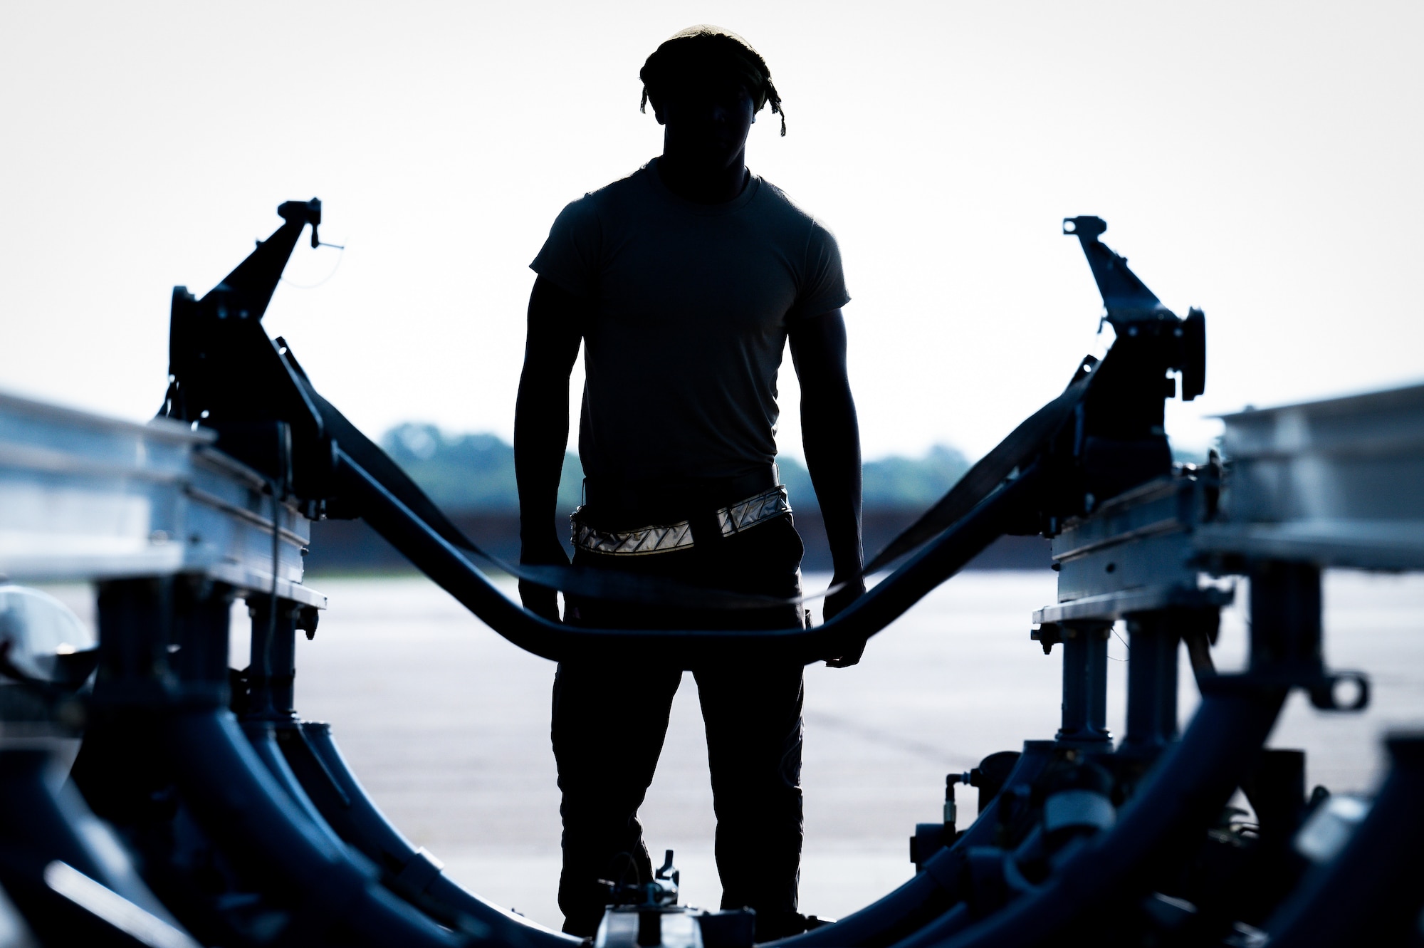
<svg viewBox="0 0 1424 948"><path fill-rule="evenodd" d="M656 105L664 90L719 73L746 85L752 95L753 115L770 104L772 114L782 117L782 135L786 134L786 112L782 110L782 97L772 84L766 60L736 33L706 23L678 30L642 64L638 73L642 80L638 111L648 111L649 97Z"/></svg>

